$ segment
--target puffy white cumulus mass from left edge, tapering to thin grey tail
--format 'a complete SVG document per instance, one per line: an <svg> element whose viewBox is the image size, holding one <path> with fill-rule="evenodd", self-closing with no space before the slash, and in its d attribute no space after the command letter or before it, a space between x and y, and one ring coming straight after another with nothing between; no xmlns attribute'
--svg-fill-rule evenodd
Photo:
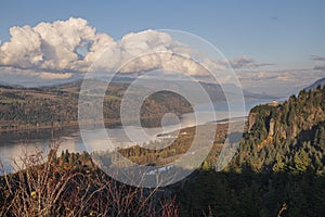
<svg viewBox="0 0 325 217"><path fill-rule="evenodd" d="M225 72L230 66L252 68L270 65L249 56L229 62L210 59L195 62L190 59L195 51L166 33L150 29L130 33L114 41L110 36L96 33L83 18L42 22L35 27L14 26L10 28L10 40L0 46L1 71L6 68L41 79L80 76L95 61L106 72L121 68L121 73L141 73L165 68L166 72L178 71L191 76L206 76L207 69ZM103 56L103 61L98 61Z"/></svg>

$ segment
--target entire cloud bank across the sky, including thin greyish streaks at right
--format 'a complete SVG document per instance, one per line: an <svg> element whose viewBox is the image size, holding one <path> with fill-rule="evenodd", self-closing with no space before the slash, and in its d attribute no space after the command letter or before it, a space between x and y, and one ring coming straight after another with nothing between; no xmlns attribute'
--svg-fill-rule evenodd
<svg viewBox="0 0 325 217"><path fill-rule="evenodd" d="M261 71L261 67L274 64L261 63L247 55L194 62L187 59L196 54L191 44L179 42L169 34L150 29L127 34L115 41L109 35L98 33L86 20L75 17L39 23L34 27L14 26L10 28L10 35L9 41L0 43L0 80L22 80L20 85L31 80L37 86L82 77L103 54L109 60L103 62L105 72L115 72L122 63L136 58L123 65L120 72L128 74L166 68L165 73L178 71L204 77L208 68L222 72L223 79L220 81L232 82L226 77L232 67L244 88L257 92L265 87L270 87L270 92L276 92L286 91L289 86L307 86L311 80L324 77L325 72L322 64L313 68L313 75L299 71ZM311 60L323 62L325 58L311 55Z"/></svg>

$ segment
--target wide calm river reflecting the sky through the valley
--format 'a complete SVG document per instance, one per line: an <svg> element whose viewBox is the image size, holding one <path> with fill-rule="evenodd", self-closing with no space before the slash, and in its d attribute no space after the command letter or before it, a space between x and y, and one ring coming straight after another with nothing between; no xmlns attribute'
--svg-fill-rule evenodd
<svg viewBox="0 0 325 217"><path fill-rule="evenodd" d="M246 111L235 111L232 112L232 117L245 117L247 116L249 110L258 104L263 104L270 102L270 99L260 99L260 100L249 100L246 101L245 107ZM164 128L146 128L144 129L150 137L138 137L136 135L141 135L139 132L143 132L142 129L134 126L127 126L127 130L129 136L133 137L132 141L129 141L126 137L125 130L121 127L116 127L109 129L107 135L109 140L115 144L115 146L129 146L141 142L150 142L151 140L155 140L157 135L160 133L169 133L180 128L191 127L195 125L202 125L206 123L211 123L216 120L226 119L227 116L227 104L226 102L217 102L214 104L214 111L207 110L207 106L204 104L197 108L198 113L196 118L193 113L184 114L179 124L173 125L165 125ZM213 119L211 119L211 114L213 114ZM198 117L198 118L197 118ZM89 129L91 130L91 129ZM98 135L96 135L98 133ZM84 145L81 133L76 128L64 128L61 130L38 130L38 131L28 131L28 132L2 132L0 133L0 159L6 173L12 173L16 170L16 162L20 164L20 156L24 153L36 153L42 152L47 153L49 146L53 144L54 141L60 143L58 153L64 150L68 150L69 152L82 152L82 151L93 151L101 150L101 144L103 143L103 139L101 139L102 135L96 130L90 133L92 138L88 138L92 140L91 145ZM98 146L96 146L98 145ZM0 164L1 166L1 164ZM1 169L0 169L1 174Z"/></svg>

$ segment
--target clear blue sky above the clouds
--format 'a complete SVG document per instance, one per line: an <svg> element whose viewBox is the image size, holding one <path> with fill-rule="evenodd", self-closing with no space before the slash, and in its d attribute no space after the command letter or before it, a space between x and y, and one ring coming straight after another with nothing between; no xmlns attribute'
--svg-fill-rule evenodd
<svg viewBox="0 0 325 217"><path fill-rule="evenodd" d="M227 58L250 55L284 68L325 55L324 1L2 1L0 38L11 26L83 17L119 39L130 31L171 28L202 36Z"/></svg>

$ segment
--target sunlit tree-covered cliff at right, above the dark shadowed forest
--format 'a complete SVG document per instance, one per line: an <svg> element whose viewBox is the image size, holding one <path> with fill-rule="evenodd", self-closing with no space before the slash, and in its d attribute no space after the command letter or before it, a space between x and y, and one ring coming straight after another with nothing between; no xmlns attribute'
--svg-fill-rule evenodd
<svg viewBox="0 0 325 217"><path fill-rule="evenodd" d="M235 162L257 171L325 175L325 87L253 107Z"/></svg>

